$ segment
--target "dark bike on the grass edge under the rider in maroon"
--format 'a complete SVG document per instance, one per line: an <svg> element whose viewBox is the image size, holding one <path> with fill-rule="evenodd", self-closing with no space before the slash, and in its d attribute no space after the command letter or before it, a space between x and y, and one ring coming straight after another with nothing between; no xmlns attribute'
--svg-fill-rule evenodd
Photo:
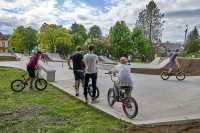
<svg viewBox="0 0 200 133"><path fill-rule="evenodd" d="M43 91L47 87L47 81L45 79L39 77L39 70L36 70L35 72L36 72L36 77L34 80L35 88L39 91ZM27 76L27 74L24 74L24 75L22 75L23 79L16 79L11 82L11 89L14 92L21 92L24 90L24 88L26 86L28 86L28 83L25 83L26 76Z"/></svg>

